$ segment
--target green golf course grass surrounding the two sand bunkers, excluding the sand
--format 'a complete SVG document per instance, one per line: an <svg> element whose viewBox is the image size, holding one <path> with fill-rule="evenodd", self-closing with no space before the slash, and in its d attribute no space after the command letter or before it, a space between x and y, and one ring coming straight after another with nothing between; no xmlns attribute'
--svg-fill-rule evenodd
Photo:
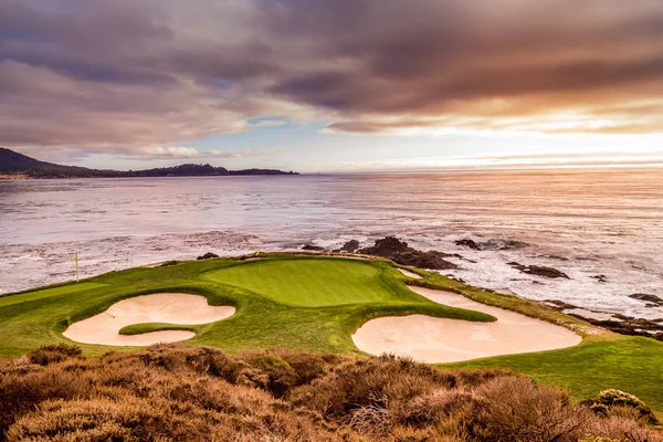
<svg viewBox="0 0 663 442"><path fill-rule="evenodd" d="M272 255L260 261L231 259L185 262L156 269L131 269L78 284L52 286L0 297L0 356L20 356L45 344L67 341L67 325L93 316L114 303L159 292L197 293L211 305L233 305L221 322L181 326L138 324L123 329L139 334L189 329L190 344L236 352L248 348L288 346L314 352L361 354L351 334L367 320L390 315L424 314L467 320L488 315L434 304L404 284L463 293L504 308L564 325L580 333L580 346L538 354L481 359L452 367L511 367L549 385L569 388L583 399L607 388L633 393L663 411L663 344L614 334L591 335L592 327L554 309L513 295L493 294L418 272L411 280L385 261ZM524 332L526 333L526 332ZM81 345L90 356L117 347Z"/></svg>

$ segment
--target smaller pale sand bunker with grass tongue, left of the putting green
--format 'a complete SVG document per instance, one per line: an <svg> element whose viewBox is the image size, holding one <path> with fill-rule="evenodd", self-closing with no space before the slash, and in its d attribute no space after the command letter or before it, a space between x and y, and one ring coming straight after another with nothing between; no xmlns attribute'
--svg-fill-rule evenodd
<svg viewBox="0 0 663 442"><path fill-rule="evenodd" d="M214 307L200 295L157 293L131 297L113 304L106 312L72 324L63 335L77 343L113 346L147 346L175 343L196 336L189 330L162 330L141 335L119 335L128 325L164 323L177 325L208 324L234 314L234 307Z"/></svg>

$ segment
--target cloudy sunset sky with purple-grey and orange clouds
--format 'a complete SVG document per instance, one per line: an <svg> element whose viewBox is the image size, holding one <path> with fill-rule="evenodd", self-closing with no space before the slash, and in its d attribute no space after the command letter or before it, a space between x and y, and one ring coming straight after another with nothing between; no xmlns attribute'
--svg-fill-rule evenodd
<svg viewBox="0 0 663 442"><path fill-rule="evenodd" d="M663 8L2 0L0 147L117 169L663 165Z"/></svg>

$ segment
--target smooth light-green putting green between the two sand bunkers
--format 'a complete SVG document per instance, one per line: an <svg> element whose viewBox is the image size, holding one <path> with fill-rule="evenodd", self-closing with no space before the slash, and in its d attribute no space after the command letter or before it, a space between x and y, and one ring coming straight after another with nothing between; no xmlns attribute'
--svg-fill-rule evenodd
<svg viewBox="0 0 663 442"><path fill-rule="evenodd" d="M372 304L394 297L377 267L340 259L254 261L206 273L202 278L293 307Z"/></svg>

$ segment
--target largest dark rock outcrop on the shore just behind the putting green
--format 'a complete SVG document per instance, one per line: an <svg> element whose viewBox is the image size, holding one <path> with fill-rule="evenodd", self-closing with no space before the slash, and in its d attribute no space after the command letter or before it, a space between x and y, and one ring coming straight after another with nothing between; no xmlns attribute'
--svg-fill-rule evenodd
<svg viewBox="0 0 663 442"><path fill-rule="evenodd" d="M422 252L412 249L407 242L394 236L377 240L375 245L361 249L359 253L382 256L401 265L410 265L419 269L455 270L457 265L444 260L446 253L429 251Z"/></svg>

